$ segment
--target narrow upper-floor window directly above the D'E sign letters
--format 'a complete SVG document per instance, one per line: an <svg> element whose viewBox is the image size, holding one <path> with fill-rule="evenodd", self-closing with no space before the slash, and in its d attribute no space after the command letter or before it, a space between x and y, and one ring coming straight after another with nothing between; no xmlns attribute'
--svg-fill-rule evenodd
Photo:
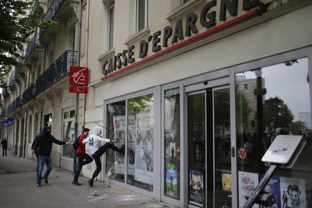
<svg viewBox="0 0 312 208"><path fill-rule="evenodd" d="M148 1L136 0L136 32L148 26Z"/></svg>

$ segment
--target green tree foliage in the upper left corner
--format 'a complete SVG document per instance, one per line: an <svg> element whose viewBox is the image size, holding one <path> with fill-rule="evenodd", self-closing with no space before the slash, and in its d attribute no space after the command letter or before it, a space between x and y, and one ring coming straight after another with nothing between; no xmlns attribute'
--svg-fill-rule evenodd
<svg viewBox="0 0 312 208"><path fill-rule="evenodd" d="M0 0L0 87L7 87L4 77L8 66L20 66L21 49L37 27L46 27L53 21L40 23L40 15L31 13L35 0Z"/></svg>

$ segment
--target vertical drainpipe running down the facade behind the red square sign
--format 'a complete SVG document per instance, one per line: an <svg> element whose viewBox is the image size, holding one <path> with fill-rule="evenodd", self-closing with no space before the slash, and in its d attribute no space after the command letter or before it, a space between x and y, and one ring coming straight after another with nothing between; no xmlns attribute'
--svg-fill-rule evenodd
<svg viewBox="0 0 312 208"><path fill-rule="evenodd" d="M80 67L80 50L81 50L81 16L83 13L83 0L79 1L79 10L78 10L78 67ZM76 93L76 110L75 110L75 123L74 123L74 135L75 139L78 137L78 110L79 110L79 94ZM77 155L76 151L73 150L73 173L76 173L76 162Z"/></svg>

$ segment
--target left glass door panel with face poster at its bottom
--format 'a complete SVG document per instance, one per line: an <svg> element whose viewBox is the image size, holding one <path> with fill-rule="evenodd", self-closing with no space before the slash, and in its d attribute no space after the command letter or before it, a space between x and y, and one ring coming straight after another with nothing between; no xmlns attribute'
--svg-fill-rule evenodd
<svg viewBox="0 0 312 208"><path fill-rule="evenodd" d="M206 207L206 92L189 94L189 205Z"/></svg>

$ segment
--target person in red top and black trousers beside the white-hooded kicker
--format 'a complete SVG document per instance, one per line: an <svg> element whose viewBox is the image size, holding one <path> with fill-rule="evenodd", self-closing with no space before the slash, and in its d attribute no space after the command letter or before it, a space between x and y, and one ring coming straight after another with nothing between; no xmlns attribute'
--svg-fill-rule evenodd
<svg viewBox="0 0 312 208"><path fill-rule="evenodd" d="M76 154L78 157L78 164L77 164L76 174L73 177L73 184L76 184L76 185L81 185L78 182L78 177L80 175L80 172L83 166L93 161L92 157L85 153L85 144L83 144L83 139L87 138L87 136L89 135L89 131L90 131L89 128L84 128L83 134L78 137L79 146L78 146L78 149L76 150Z"/></svg>

